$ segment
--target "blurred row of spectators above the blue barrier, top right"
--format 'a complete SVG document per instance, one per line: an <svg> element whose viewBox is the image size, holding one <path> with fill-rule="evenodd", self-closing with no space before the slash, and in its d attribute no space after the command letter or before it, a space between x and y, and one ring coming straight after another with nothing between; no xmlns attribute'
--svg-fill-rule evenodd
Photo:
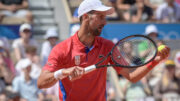
<svg viewBox="0 0 180 101"><path fill-rule="evenodd" d="M123 22L180 22L179 0L102 0L112 6L115 12L107 16L109 21ZM73 13L73 22L79 22L77 9Z"/></svg>

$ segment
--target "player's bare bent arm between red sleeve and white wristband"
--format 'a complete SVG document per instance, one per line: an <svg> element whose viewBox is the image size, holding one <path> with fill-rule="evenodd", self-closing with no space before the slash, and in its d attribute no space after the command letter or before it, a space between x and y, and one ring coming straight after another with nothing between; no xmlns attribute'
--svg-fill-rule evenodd
<svg viewBox="0 0 180 101"><path fill-rule="evenodd" d="M41 75L38 78L37 85L38 88L49 88L57 82L57 79L54 78L54 73L49 71L42 71Z"/></svg>

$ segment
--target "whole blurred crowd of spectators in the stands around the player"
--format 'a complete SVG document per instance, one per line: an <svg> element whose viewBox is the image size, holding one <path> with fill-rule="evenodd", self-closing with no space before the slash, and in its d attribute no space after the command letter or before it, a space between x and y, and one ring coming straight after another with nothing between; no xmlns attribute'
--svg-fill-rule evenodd
<svg viewBox="0 0 180 101"><path fill-rule="evenodd" d="M107 0L105 3L115 9L114 14L107 17L109 21L180 22L180 0ZM20 38L13 40L12 45L0 36L0 101L58 101L58 83L40 90L36 82L51 49L59 42L59 33L55 28L47 29L44 42L39 44L33 38L33 16L28 6L28 0L0 0L0 24L24 23L19 28ZM79 22L77 9L73 22ZM73 28L77 31L79 25ZM165 44L157 39L158 29L154 25L146 27L145 34L157 45ZM130 49L128 45L124 48ZM135 84L119 76L119 85L122 100L179 101L180 51ZM114 101L115 95L115 89L109 85L107 100Z"/></svg>

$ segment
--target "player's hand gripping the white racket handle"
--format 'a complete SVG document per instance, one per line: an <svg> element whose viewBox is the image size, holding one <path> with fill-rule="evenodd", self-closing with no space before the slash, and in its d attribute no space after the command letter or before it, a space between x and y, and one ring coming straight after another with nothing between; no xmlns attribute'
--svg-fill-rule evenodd
<svg viewBox="0 0 180 101"><path fill-rule="evenodd" d="M63 75L69 76L69 80L74 81L76 79L79 79L84 75L84 68L82 67L72 67L69 69L65 69L62 71Z"/></svg>

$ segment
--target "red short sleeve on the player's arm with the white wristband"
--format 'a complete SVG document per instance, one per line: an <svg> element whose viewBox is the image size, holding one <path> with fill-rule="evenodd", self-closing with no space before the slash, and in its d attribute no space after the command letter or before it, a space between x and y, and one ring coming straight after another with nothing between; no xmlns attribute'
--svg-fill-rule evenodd
<svg viewBox="0 0 180 101"><path fill-rule="evenodd" d="M48 57L48 61L46 62L43 70L48 70L50 72L57 71L61 69L60 67L62 66L62 60L63 53L60 51L58 47L54 47Z"/></svg>

